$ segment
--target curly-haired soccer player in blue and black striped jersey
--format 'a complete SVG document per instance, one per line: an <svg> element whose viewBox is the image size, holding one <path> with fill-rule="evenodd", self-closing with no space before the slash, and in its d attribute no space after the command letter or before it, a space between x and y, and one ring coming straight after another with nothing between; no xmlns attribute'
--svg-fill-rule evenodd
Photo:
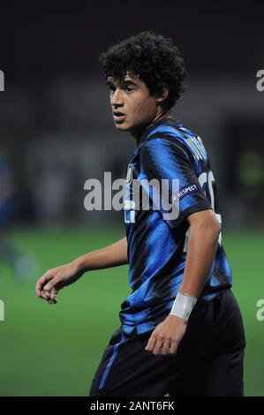
<svg viewBox="0 0 264 415"><path fill-rule="evenodd" d="M170 39L144 32L100 60L116 128L137 142L124 194L126 237L49 269L36 294L56 303L58 291L85 272L128 262L132 293L90 396L242 396L245 334L215 178L200 137L171 117L185 89L183 58ZM176 215L157 208L146 185L153 179L167 183ZM144 183L148 209L136 206L134 182Z"/></svg>

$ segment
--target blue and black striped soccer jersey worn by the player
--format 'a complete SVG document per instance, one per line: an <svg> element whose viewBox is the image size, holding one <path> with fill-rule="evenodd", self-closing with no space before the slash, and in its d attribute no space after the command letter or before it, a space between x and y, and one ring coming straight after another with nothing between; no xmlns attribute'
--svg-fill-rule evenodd
<svg viewBox="0 0 264 415"><path fill-rule="evenodd" d="M164 215L168 211L162 203L157 208L154 190L147 185L153 179L160 189L166 183L170 206L177 205L176 217ZM175 179L177 188L172 185ZM143 193L149 198L148 209ZM140 138L127 170L124 223L132 293L119 313L126 334L134 329L138 333L152 330L170 313L185 270L186 217L206 209L213 209L221 223L215 178L202 140L172 118L165 118ZM200 298L210 300L230 288L231 278L220 236Z"/></svg>

